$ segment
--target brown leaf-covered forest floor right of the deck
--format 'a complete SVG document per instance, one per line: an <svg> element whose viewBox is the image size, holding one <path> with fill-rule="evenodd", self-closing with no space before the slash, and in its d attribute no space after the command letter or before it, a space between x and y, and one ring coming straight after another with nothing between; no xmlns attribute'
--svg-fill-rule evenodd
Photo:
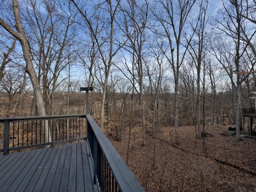
<svg viewBox="0 0 256 192"><path fill-rule="evenodd" d="M173 127L161 127L156 139L147 131L143 147L141 128L133 128L128 166L147 192L256 192L256 139L236 142L228 127L207 125L205 153L194 126L179 127L180 145ZM126 161L128 128L121 142L109 139Z"/></svg>

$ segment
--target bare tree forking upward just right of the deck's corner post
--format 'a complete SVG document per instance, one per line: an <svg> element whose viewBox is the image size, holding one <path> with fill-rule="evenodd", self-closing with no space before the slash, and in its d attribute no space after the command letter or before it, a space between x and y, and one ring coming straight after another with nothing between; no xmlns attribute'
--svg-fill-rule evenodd
<svg viewBox="0 0 256 192"><path fill-rule="evenodd" d="M118 28L116 28L116 26L118 26L118 22L116 17L118 17L120 10L120 0L117 0L115 3L113 3L111 0L106 0L102 3L95 4L92 12L84 11L84 7L80 4L80 2L75 2L75 0L71 1L79 10L80 14L84 18L87 28L92 33L98 47L100 59L103 63L102 69L104 71L104 80L100 109L100 128L103 129L104 105L110 68L114 62L114 56L128 41L127 38L120 42L117 35ZM100 15L98 13L100 13ZM98 20L99 18L101 22L95 23L94 19Z"/></svg>

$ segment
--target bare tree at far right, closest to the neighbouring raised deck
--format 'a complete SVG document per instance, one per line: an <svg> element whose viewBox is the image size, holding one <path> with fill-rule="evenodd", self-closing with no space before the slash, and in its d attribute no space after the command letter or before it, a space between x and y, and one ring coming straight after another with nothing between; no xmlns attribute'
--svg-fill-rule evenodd
<svg viewBox="0 0 256 192"><path fill-rule="evenodd" d="M246 49L250 47L250 42L246 41L246 37L244 36L244 34L250 34L250 28L246 28L246 26L250 25L246 25L246 22L242 17L245 11L244 1L229 0L227 3L226 1L222 1L222 3L224 8L219 10L218 17L215 19L216 25L214 25L214 27L218 29L218 33L226 35L226 37L225 39L222 39L222 44L218 44L219 50L222 51L217 52L217 50L214 50L214 54L226 70L232 85L236 90L236 140L240 141L242 140L240 134L240 127L242 126L240 116L240 89L242 82L252 72L252 66L241 62L241 59L244 57ZM254 35L254 33L252 35ZM226 40L227 37L232 42L232 44L230 44L229 55L227 54L228 50L226 48L223 49L222 47L223 44L229 44ZM229 66L226 66L226 64L229 64ZM245 71L249 72L245 73Z"/></svg>

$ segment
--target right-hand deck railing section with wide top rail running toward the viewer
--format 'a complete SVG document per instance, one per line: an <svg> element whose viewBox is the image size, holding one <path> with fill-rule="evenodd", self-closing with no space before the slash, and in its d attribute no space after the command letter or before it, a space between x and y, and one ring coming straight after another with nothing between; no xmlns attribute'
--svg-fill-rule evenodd
<svg viewBox="0 0 256 192"><path fill-rule="evenodd" d="M122 160L121 156L90 114L86 114L86 119L87 138L91 148L92 157L94 159L94 180L98 182L100 188L104 188L103 191L109 191L111 183L108 182L111 180L111 173L106 173L107 170L105 170L109 167L119 191L144 192L144 188L142 188L134 174L128 168L124 160ZM107 165L105 165L105 161ZM104 174L104 172L106 174ZM103 178L98 176L98 173L103 174Z"/></svg>

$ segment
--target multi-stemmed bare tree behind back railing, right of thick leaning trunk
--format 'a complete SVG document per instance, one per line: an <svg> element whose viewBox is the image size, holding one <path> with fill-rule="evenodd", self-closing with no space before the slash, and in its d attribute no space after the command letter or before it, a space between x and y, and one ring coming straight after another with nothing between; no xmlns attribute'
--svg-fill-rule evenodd
<svg viewBox="0 0 256 192"><path fill-rule="evenodd" d="M74 60L76 12L62 0L28 0L24 18L31 30L30 47L42 81L47 114L54 115L55 90L63 80L59 76ZM66 6L65 6L66 5ZM41 10L44 7L44 11Z"/></svg>

